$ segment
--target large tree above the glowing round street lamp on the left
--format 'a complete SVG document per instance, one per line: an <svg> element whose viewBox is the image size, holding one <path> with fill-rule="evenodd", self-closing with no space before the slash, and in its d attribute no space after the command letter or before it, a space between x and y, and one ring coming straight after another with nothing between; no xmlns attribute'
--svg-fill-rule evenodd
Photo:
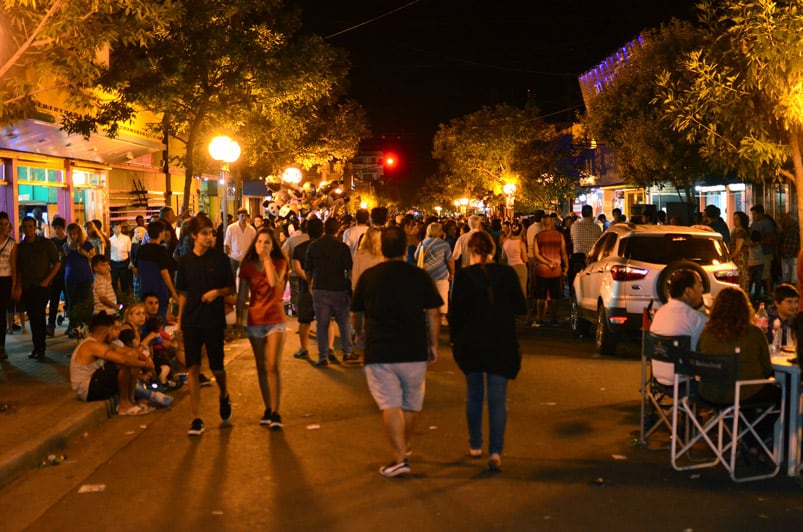
<svg viewBox="0 0 803 532"><path fill-rule="evenodd" d="M299 33L297 11L282 0L184 4L187 9L154 44L114 51L101 79L115 94L112 101L99 101L95 112L65 121L71 132L87 135L105 127L113 135L135 105L162 114L164 120L154 128L185 147L173 155L185 170L182 210L188 207L193 177L216 165L206 153L215 132L226 131L241 142L242 167L288 161L293 149L303 153L294 143L308 140L311 127L339 116L348 72L342 52L320 37ZM359 118L353 106L340 109ZM364 131L364 126L355 129Z"/></svg>

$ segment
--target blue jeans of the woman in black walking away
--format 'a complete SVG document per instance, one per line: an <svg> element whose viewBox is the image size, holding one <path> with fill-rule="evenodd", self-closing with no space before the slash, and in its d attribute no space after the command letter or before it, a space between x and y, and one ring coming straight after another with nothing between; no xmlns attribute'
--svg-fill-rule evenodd
<svg viewBox="0 0 803 532"><path fill-rule="evenodd" d="M488 454L502 454L507 423L507 378L494 373L466 375L466 419L472 449L482 449L482 409L488 383Z"/></svg>

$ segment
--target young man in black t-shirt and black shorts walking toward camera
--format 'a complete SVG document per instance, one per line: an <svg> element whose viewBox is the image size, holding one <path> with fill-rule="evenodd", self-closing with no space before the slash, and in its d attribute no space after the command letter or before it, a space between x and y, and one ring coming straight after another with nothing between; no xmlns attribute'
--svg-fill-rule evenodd
<svg viewBox="0 0 803 532"><path fill-rule="evenodd" d="M201 350L206 346L209 369L220 390L220 419L231 420L231 400L223 368L223 335L226 330L224 298L235 293L234 274L228 257L215 248L215 231L207 216L190 221L192 251L178 268L178 323L184 338L184 356L189 373L192 424L188 434L204 432L201 419Z"/></svg>

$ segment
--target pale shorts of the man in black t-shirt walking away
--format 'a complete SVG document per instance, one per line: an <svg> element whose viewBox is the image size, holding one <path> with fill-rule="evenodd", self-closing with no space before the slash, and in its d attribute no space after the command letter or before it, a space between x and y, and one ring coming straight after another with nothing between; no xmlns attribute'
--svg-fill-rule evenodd
<svg viewBox="0 0 803 532"><path fill-rule="evenodd" d="M366 364L368 389L380 410L399 408L420 412L424 406L426 362Z"/></svg>

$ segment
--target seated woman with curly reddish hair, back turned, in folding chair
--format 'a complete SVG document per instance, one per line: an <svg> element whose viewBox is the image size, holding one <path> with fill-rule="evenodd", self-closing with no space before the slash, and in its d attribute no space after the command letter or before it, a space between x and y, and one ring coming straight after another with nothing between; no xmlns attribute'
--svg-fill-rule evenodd
<svg viewBox="0 0 803 532"><path fill-rule="evenodd" d="M753 307L741 288L723 289L714 299L711 315L700 335L697 351L707 354L739 353L738 380L766 379L773 375L767 337L753 324ZM698 393L704 400L714 404L733 404L733 385L700 380ZM779 404L781 390L771 384L745 386L741 390L742 401ZM770 420L759 424L762 438L772 434ZM755 445L748 444L750 454L755 455Z"/></svg>

